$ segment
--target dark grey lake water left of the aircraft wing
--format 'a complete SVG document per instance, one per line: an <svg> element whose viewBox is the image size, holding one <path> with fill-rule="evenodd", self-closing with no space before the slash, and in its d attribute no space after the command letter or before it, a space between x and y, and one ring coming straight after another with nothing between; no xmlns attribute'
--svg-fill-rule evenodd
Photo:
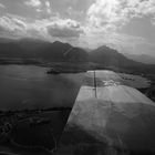
<svg viewBox="0 0 155 155"><path fill-rule="evenodd" d="M46 70L0 65L0 110L72 106L84 73L52 75Z"/></svg>

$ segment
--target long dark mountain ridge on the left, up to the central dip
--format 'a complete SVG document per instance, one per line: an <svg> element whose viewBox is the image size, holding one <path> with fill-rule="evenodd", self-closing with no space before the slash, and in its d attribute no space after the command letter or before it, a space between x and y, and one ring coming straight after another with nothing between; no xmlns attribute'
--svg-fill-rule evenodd
<svg viewBox="0 0 155 155"><path fill-rule="evenodd" d="M42 59L46 61L86 61L87 53L80 49L55 41L53 43L34 39L0 39L0 58Z"/></svg>

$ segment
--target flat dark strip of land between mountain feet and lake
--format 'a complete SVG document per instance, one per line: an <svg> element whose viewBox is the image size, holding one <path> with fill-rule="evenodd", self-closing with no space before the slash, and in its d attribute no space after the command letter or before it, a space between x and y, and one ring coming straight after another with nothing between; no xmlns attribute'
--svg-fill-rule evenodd
<svg viewBox="0 0 155 155"><path fill-rule="evenodd" d="M138 68L118 68L114 65L105 65L101 63L94 62L81 62L81 61L45 61L43 59L22 59L22 58L0 58L0 65L9 65L9 64L17 64L17 65L37 65L43 68L55 68L60 69L61 72L64 73L80 73L86 72L91 70L112 70L114 72L120 73L128 73L135 75L143 75L143 74L155 74L155 71L149 69L152 65L147 65L146 70L138 69Z"/></svg>

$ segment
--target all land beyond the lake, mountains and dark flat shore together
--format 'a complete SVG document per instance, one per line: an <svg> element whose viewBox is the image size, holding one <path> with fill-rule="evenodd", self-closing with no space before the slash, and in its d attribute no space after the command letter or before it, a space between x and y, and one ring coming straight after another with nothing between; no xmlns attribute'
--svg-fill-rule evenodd
<svg viewBox="0 0 155 155"><path fill-rule="evenodd" d="M45 66L49 68L49 74L112 70L142 75L151 81L151 86L140 91L155 100L155 64L136 62L105 45L87 52L59 41L0 39L0 64Z"/></svg>

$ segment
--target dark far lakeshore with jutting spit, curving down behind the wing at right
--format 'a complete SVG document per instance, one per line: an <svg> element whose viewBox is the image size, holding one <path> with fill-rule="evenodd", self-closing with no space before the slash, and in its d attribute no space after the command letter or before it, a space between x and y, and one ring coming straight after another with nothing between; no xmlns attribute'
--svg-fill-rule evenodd
<svg viewBox="0 0 155 155"><path fill-rule="evenodd" d="M142 73L132 73L132 72L126 72L125 70L116 70L116 69L112 69L112 68L103 68L103 66L96 66L95 64L89 64L89 63L78 63L78 64L73 64L72 62L51 62L51 63L17 63L17 62L6 62L6 63L0 63L0 65L19 65L19 66L39 66L39 68L44 68L45 74L51 74L51 75L59 75L59 74L76 74L76 73L85 73L87 71L91 70L110 70L110 71L115 71L118 74L133 74L133 75L140 75L144 79L146 79L149 82L149 86L147 87L140 87L138 90L145 94L146 96L148 96L149 99L152 99L153 101L155 101L154 99L154 92L155 92L155 75L154 74L142 74ZM89 65L89 68L87 68ZM51 70L55 70L58 71L58 73L51 72ZM152 93L153 92L153 93Z"/></svg>

